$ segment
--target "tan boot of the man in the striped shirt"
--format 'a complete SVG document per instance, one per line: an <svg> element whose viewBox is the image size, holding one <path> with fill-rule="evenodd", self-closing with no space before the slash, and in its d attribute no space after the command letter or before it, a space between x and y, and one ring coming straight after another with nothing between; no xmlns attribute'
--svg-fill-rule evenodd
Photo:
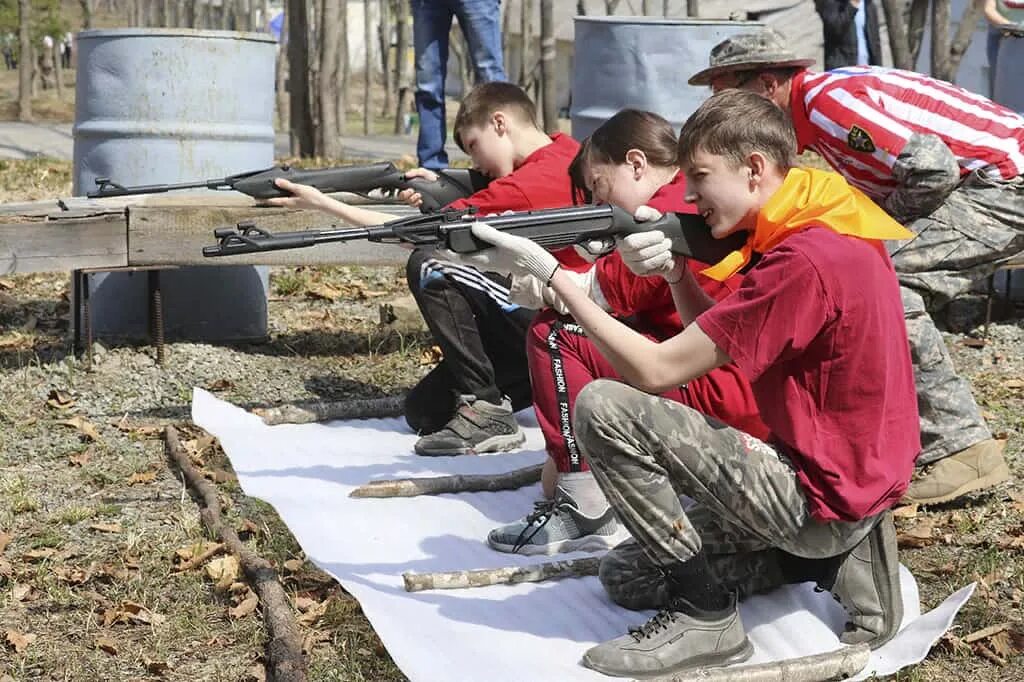
<svg viewBox="0 0 1024 682"><path fill-rule="evenodd" d="M992 487L1010 478L1006 440L989 438L936 462L910 483L901 504L936 505Z"/></svg>

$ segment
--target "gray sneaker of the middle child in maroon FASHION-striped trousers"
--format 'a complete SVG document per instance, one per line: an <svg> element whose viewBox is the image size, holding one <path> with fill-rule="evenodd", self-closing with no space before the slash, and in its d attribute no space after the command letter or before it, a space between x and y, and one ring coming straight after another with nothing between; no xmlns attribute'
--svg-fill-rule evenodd
<svg viewBox="0 0 1024 682"><path fill-rule="evenodd" d="M559 554L598 552L627 538L629 532L610 507L598 517L585 516L575 501L556 487L554 500L535 503L526 518L495 528L487 535L487 544L509 554Z"/></svg>

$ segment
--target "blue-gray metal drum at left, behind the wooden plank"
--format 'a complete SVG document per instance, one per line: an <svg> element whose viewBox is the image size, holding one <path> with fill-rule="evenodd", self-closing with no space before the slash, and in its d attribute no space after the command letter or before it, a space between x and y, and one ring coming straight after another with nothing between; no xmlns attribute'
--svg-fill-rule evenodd
<svg viewBox="0 0 1024 682"><path fill-rule="evenodd" d="M272 165L276 44L268 35L116 29L83 31L77 45L75 194L102 176L185 182ZM265 338L267 272L249 265L162 272L167 338ZM89 279L97 336L148 336L146 281L131 272Z"/></svg>

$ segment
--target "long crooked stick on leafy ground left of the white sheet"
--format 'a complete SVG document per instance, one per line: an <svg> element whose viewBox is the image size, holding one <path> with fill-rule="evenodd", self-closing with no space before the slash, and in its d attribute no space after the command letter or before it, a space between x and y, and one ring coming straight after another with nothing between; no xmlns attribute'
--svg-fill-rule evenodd
<svg viewBox="0 0 1024 682"><path fill-rule="evenodd" d="M178 439L177 429L168 426L164 431L164 451L181 470L189 489L197 498L200 516L206 527L239 558L242 570L263 604L263 623L269 636L265 654L268 679L278 682L305 682L306 659L302 655L302 638L299 637L291 602L278 580L278 571L269 561L246 547L234 530L223 522L217 488L188 460L188 453Z"/></svg>

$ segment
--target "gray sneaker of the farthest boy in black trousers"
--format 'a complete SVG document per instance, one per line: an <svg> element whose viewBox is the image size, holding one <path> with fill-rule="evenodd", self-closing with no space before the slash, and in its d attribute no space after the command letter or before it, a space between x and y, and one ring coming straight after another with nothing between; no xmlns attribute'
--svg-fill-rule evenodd
<svg viewBox="0 0 1024 682"><path fill-rule="evenodd" d="M472 395L459 396L459 409L439 431L416 441L417 455L476 455L503 453L526 441L512 414L508 398L501 404L477 400Z"/></svg>

